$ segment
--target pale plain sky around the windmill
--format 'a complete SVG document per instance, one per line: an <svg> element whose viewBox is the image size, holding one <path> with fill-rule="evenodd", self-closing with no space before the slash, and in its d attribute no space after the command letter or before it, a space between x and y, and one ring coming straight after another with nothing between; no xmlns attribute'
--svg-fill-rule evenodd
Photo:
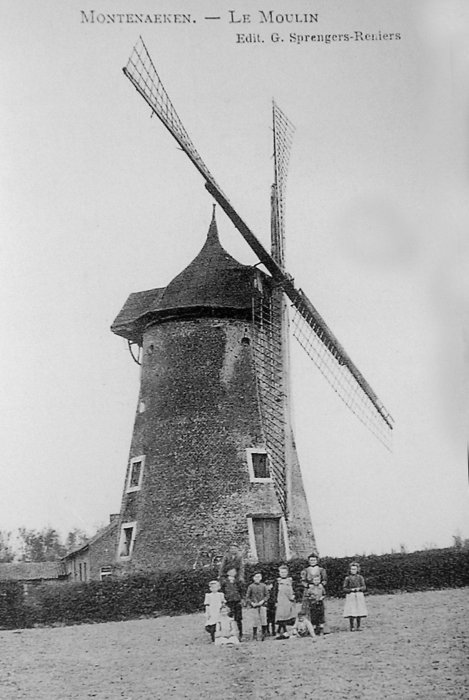
<svg viewBox="0 0 469 700"><path fill-rule="evenodd" d="M469 538L469 7L460 0L5 3L0 28L0 529L119 511L139 369L109 327L210 223L200 175L125 79L141 33L198 151L269 245L271 101L295 125L287 270L394 417L388 452L292 341L294 423L322 555ZM174 3L125 3L174 13ZM239 19L229 22L229 10ZM219 20L205 17L220 16ZM301 35L393 39L290 41ZM277 32L283 41L272 41ZM238 42L260 37L262 41ZM395 38L400 35L400 39ZM225 215L222 244L254 254Z"/></svg>

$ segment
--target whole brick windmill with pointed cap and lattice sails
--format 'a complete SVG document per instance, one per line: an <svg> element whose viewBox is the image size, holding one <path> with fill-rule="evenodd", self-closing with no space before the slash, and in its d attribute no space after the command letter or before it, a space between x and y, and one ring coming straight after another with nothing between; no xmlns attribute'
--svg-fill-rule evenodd
<svg viewBox="0 0 469 700"><path fill-rule="evenodd" d="M393 421L285 269L285 187L293 127L273 103L275 167L269 253L197 152L142 38L123 70L152 115L197 168L205 188L259 262L254 267L243 266L224 251L214 213L207 241L186 270L164 288L131 295L114 321L112 330L125 337L129 347L137 345L142 360L117 561L127 569L175 568L187 565L188 557L195 555L197 560L201 553L206 556L208 551L220 550L230 539L241 540L254 559L305 556L314 546L314 536L290 420L289 306L294 311L293 335L348 408L386 445ZM181 348L186 346L193 354L178 360L178 352L184 355ZM204 353L210 348L215 354L207 363ZM159 359L153 358L154 353ZM204 372L221 363L220 372L210 380L218 393L212 391L210 398L204 398L208 375L200 393L200 371L191 374L188 357L191 364L202 362ZM179 369L178 361L183 361ZM174 391L181 394L179 402L174 401L165 379L169 376ZM199 386L198 397L193 395L194 385ZM234 405L240 399L241 404L245 402L241 412ZM222 414L214 408L220 402L225 402ZM168 404L174 411L171 415ZM226 413L231 420L224 420ZM216 430L215 414L215 420L223 423L222 427L217 423ZM172 416L177 419L171 420ZM194 424L200 431L191 442ZM187 444L192 445L189 455L184 449ZM216 459L211 459L214 449L229 453L225 462L221 460L223 464L217 466ZM214 485L222 472L224 485ZM207 484L210 503L205 498ZM168 499L172 510L166 507Z"/></svg>

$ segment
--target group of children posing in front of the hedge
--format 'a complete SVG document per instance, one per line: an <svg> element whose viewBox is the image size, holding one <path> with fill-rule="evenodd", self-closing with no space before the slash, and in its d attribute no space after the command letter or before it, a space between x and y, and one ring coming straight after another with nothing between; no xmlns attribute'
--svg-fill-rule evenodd
<svg viewBox="0 0 469 700"><path fill-rule="evenodd" d="M360 621L366 617L365 580L356 562L350 564L345 577L344 617L349 618L350 630L360 630ZM209 583L205 596L205 629L216 645L239 644L243 637L243 622L249 623L253 640L290 637L313 637L324 634L327 573L311 554L308 566L300 574L301 607L297 603L293 580L288 567L282 564L275 581L262 581L258 571L245 590L244 570L232 566L220 580ZM243 615L243 603L245 605ZM355 626L355 627L354 627Z"/></svg>

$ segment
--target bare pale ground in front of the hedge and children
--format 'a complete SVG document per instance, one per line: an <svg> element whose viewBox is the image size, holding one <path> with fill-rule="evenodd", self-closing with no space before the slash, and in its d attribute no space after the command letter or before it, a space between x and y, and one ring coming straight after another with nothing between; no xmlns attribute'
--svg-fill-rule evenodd
<svg viewBox="0 0 469 700"><path fill-rule="evenodd" d="M469 698L469 589L370 596L362 632L208 641L203 616L0 632L1 700Z"/></svg>

